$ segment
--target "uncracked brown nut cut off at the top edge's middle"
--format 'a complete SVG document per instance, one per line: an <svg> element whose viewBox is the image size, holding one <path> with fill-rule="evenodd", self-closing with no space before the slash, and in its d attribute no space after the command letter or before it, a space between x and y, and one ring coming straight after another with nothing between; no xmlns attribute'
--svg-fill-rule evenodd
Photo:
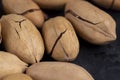
<svg viewBox="0 0 120 80"><path fill-rule="evenodd" d="M61 9L70 0L34 0L44 9Z"/></svg>

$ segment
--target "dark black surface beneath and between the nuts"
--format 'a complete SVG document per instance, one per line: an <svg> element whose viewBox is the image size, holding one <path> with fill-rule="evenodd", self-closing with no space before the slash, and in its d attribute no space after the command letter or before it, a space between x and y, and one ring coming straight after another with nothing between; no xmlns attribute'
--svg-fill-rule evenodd
<svg viewBox="0 0 120 80"><path fill-rule="evenodd" d="M0 13L4 14L0 2ZM63 11L47 11L44 10L49 17L63 15ZM105 10L109 13L117 23L117 40L102 46L89 44L80 41L80 54L72 63L78 64L88 70L95 80L120 80L120 12L113 10ZM91 34L92 35L92 34ZM3 50L3 49L1 49ZM46 53L43 61L53 61Z"/></svg>

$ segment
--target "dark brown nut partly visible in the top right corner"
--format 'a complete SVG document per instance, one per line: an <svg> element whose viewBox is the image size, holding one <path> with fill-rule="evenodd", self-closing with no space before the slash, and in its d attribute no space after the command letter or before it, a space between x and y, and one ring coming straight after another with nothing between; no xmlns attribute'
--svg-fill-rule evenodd
<svg viewBox="0 0 120 80"><path fill-rule="evenodd" d="M120 10L120 0L91 0L106 9Z"/></svg>

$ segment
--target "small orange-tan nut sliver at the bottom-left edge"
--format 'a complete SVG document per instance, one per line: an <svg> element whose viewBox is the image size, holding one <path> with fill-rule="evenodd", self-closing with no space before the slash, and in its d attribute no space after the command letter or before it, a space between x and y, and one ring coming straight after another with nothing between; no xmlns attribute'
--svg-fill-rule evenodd
<svg viewBox="0 0 120 80"><path fill-rule="evenodd" d="M32 80L32 78L26 74L17 73L7 75L2 80Z"/></svg>

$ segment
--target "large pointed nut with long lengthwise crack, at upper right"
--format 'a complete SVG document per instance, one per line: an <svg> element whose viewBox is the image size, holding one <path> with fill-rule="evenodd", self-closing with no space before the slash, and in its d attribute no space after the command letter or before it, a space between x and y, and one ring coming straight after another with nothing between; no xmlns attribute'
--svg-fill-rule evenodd
<svg viewBox="0 0 120 80"><path fill-rule="evenodd" d="M65 16L72 22L78 35L90 43L105 44L116 40L113 18L85 0L69 2Z"/></svg>

